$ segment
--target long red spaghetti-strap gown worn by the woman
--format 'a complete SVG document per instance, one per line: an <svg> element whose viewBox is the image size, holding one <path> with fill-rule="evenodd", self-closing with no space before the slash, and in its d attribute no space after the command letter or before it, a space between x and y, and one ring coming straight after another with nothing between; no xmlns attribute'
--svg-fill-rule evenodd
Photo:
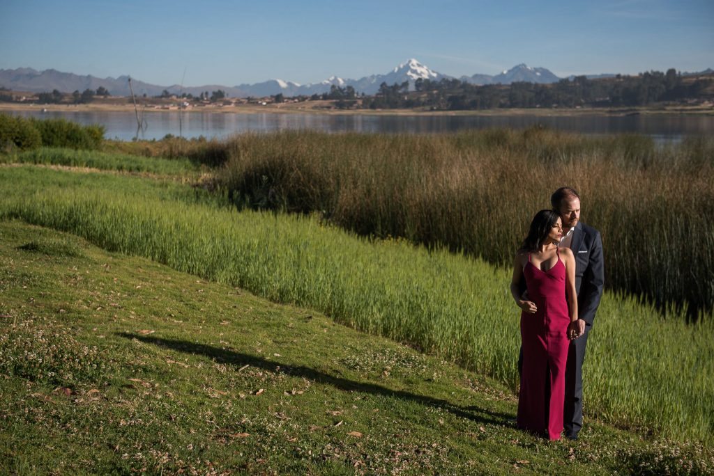
<svg viewBox="0 0 714 476"><path fill-rule="evenodd" d="M531 263L523 268L535 314L521 313L523 370L518 394L518 428L560 439L563 431L565 362L568 360L568 303L565 301L565 264L548 271Z"/></svg>

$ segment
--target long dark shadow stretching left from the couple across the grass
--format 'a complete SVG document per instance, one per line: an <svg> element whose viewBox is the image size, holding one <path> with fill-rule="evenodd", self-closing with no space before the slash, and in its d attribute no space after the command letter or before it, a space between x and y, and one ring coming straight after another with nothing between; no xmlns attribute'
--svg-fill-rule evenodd
<svg viewBox="0 0 714 476"><path fill-rule="evenodd" d="M178 341L174 339L166 339L159 337L138 336L136 334L127 332L117 333L117 335L124 338L135 338L142 342L152 343L160 347L171 348L175 351L206 356L218 363L237 366L239 368L248 365L255 368L261 368L265 371L284 373L287 376L307 378L308 380L316 381L317 383L331 385L340 390L371 393L372 395L378 395L388 398L398 398L401 400L408 400L420 403L421 405L443 408L443 410L447 410L453 413L453 415L456 415L460 418L473 420L476 423L508 425L508 421L512 420L514 417L514 415L510 415L508 413L494 412L491 410L486 410L484 408L479 408L476 405L461 407L459 405L454 405L453 403L450 403L447 400L441 400L440 398L433 398L425 395L416 395L415 393L406 392L404 390L392 390L391 388L379 386L374 383L351 381L347 378L333 376L329 373L324 373L314 368L306 366L291 366L278 361L270 361L266 358L251 356L247 353L239 353L223 348L206 346L205 344L201 343Z"/></svg>

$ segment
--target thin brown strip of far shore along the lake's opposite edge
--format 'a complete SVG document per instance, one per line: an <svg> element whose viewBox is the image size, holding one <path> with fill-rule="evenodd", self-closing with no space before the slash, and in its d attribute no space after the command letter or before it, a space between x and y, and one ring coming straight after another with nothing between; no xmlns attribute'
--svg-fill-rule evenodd
<svg viewBox="0 0 714 476"><path fill-rule="evenodd" d="M144 113L178 113L178 108L139 105ZM61 113L129 113L134 112L134 105L116 103L90 104L15 104L0 103L0 112L61 112ZM623 117L628 115L714 115L712 106L664 106L662 108L532 108L532 109L488 109L488 110L418 110L418 109L350 109L340 110L328 107L308 107L305 103L281 104L239 104L239 105L201 105L183 109L183 113L215 114L314 114L314 115L419 115L419 116L522 116L541 117L563 116L603 116Z"/></svg>

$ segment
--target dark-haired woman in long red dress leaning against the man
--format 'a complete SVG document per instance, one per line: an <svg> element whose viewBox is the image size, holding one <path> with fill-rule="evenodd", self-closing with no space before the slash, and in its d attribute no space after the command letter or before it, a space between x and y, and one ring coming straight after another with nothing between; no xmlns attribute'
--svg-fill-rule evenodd
<svg viewBox="0 0 714 476"><path fill-rule="evenodd" d="M511 294L522 309L523 370L516 422L518 428L550 440L560 439L563 431L568 339L579 337L575 257L568 247L558 248L562 236L560 215L553 210L535 214L516 253L511 280Z"/></svg>

